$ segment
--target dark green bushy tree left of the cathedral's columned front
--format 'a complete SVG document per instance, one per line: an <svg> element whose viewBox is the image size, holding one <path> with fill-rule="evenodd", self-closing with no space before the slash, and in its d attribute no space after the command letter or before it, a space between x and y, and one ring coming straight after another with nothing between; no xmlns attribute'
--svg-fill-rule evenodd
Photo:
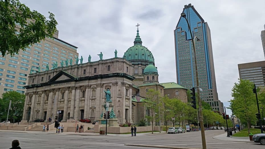
<svg viewBox="0 0 265 149"><path fill-rule="evenodd" d="M19 121L23 116L23 109L25 103L25 95L16 91L8 91L2 94L0 99L0 119L6 119L9 107L9 101L11 100L11 107L9 109L8 118L11 120Z"/></svg>

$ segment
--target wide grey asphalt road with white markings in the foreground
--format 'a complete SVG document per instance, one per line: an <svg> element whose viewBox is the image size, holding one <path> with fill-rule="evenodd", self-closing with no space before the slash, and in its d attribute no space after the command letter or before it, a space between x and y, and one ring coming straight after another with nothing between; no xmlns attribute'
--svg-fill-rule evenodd
<svg viewBox="0 0 265 149"><path fill-rule="evenodd" d="M232 142L213 139L213 136L223 134L223 130L207 130L205 137L207 148L242 148L264 149L258 143ZM80 136L66 134L34 134L23 132L0 132L0 149L11 148L12 140L19 140L22 149L74 149L74 148L99 148L99 149L149 149L148 147L124 146L124 144L150 144L159 146L182 146L202 148L201 132L186 132L183 134L159 134L152 136ZM151 149L151 148L150 148ZM152 148L153 149L153 148Z"/></svg>

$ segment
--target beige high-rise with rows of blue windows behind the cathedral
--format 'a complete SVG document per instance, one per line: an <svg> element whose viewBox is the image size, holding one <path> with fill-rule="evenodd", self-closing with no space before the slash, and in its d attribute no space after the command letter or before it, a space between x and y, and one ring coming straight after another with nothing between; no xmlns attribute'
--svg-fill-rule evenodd
<svg viewBox="0 0 265 149"><path fill-rule="evenodd" d="M78 57L76 46L58 38L59 31L54 33L54 38L29 46L24 51L20 50L14 56L0 56L0 96L5 91L17 91L24 93L23 86L28 85L28 74L46 70L46 65L52 68L52 64Z"/></svg>

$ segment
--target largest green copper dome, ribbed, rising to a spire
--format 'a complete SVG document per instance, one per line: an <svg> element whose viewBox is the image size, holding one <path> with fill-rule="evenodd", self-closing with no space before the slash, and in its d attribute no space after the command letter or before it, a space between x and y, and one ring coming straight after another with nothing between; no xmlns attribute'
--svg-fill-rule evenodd
<svg viewBox="0 0 265 149"><path fill-rule="evenodd" d="M137 29L136 38L134 39L134 46L130 47L123 55L128 61L132 60L149 60L149 57L152 58L152 62L154 63L153 54L145 47L142 46L142 40L139 36L139 30Z"/></svg>

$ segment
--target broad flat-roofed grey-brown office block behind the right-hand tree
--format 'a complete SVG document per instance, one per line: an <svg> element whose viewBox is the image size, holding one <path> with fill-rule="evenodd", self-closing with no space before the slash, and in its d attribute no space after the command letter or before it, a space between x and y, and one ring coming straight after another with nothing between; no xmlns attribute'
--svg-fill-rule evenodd
<svg viewBox="0 0 265 149"><path fill-rule="evenodd" d="M250 80L256 87L265 85L265 61L238 64L239 78Z"/></svg>

